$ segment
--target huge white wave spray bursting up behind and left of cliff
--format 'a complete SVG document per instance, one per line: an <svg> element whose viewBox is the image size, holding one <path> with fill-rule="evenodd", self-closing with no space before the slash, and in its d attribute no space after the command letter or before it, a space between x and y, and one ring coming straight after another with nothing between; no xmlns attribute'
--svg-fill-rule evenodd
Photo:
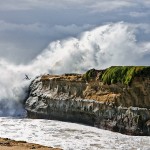
<svg viewBox="0 0 150 150"><path fill-rule="evenodd" d="M0 59L0 116L18 115L30 81L24 74L35 76L51 73L82 73L90 68L112 65L149 65L150 44L136 41L133 26L108 24L82 33L79 38L55 41L28 65L14 65ZM144 60L144 61L143 61Z"/></svg>

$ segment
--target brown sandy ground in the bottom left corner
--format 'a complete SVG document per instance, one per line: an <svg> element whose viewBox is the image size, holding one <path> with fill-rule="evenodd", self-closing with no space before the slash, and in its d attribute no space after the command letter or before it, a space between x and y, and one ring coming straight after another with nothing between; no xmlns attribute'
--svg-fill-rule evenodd
<svg viewBox="0 0 150 150"><path fill-rule="evenodd" d="M14 141L8 138L0 138L0 150L61 150L60 148L46 147L39 144Z"/></svg>

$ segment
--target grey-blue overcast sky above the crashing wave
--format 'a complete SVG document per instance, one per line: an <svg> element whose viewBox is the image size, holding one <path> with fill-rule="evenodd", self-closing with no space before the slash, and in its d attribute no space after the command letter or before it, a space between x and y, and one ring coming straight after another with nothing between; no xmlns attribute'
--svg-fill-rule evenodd
<svg viewBox="0 0 150 150"><path fill-rule="evenodd" d="M121 21L150 41L149 0L1 0L0 56L27 63L51 41Z"/></svg>

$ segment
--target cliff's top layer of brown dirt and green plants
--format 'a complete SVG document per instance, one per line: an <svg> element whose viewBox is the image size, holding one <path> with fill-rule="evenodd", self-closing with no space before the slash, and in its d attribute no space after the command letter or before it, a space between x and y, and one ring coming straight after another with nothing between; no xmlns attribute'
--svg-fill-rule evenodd
<svg viewBox="0 0 150 150"><path fill-rule="evenodd" d="M41 80L101 81L108 85L122 83L129 86L135 77L150 77L150 66L112 66L104 70L90 69L84 74L43 75Z"/></svg>

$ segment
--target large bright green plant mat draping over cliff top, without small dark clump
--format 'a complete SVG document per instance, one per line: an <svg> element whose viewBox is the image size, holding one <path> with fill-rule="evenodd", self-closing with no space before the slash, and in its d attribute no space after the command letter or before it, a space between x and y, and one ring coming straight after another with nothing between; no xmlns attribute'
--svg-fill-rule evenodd
<svg viewBox="0 0 150 150"><path fill-rule="evenodd" d="M150 67L146 66L113 66L102 75L101 80L106 84L117 82L130 85L134 77L150 76Z"/></svg>

